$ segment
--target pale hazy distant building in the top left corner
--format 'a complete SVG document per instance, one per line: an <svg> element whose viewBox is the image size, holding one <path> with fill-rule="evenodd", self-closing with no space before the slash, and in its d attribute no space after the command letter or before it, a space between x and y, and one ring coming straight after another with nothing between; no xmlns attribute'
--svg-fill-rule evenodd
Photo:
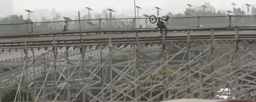
<svg viewBox="0 0 256 102"><path fill-rule="evenodd" d="M13 15L13 1L0 0L0 17L8 17Z"/></svg>

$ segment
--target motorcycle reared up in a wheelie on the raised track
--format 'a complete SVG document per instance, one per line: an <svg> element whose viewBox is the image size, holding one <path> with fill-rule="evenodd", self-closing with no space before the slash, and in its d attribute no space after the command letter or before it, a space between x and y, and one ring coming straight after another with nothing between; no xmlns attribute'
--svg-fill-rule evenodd
<svg viewBox="0 0 256 102"><path fill-rule="evenodd" d="M152 15L152 16L150 16L150 23L154 24L154 23L156 23L156 21L158 21L156 25L160 28L160 33L162 35L163 35L163 33L166 35L169 29L164 25L164 22L162 21L163 18L165 18L165 17L157 17L156 18L156 16Z"/></svg>

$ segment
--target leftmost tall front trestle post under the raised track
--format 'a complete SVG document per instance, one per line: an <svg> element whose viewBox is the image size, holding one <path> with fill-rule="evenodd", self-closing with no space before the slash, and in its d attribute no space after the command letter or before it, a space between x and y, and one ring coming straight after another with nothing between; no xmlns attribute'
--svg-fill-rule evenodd
<svg viewBox="0 0 256 102"><path fill-rule="evenodd" d="M28 48L27 48L27 41L25 41L25 56L26 56L26 73L25 73L25 81L26 81L26 101L28 102ZM24 98L23 98L24 99Z"/></svg>

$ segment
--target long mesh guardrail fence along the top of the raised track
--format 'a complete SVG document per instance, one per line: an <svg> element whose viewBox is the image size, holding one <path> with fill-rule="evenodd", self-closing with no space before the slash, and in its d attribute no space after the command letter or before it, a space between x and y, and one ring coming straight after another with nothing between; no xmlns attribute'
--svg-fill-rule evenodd
<svg viewBox="0 0 256 102"><path fill-rule="evenodd" d="M153 28L156 23L149 22L149 18L137 18L138 28ZM171 28L188 27L228 27L255 25L256 16L213 16L213 17L176 17L169 20ZM124 19L90 19L80 20L81 29L121 29L135 28L135 18ZM31 22L0 24L0 34L6 33L27 33L41 31L63 31L80 29L79 21L53 21L53 22Z"/></svg>

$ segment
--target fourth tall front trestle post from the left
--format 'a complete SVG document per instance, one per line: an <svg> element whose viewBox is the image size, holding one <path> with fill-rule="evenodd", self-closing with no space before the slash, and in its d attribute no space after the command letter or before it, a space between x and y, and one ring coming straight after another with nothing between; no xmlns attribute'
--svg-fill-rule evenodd
<svg viewBox="0 0 256 102"><path fill-rule="evenodd" d="M109 76L110 76L110 100L113 99L113 76L112 76L112 49L111 49L111 34L109 33Z"/></svg>

